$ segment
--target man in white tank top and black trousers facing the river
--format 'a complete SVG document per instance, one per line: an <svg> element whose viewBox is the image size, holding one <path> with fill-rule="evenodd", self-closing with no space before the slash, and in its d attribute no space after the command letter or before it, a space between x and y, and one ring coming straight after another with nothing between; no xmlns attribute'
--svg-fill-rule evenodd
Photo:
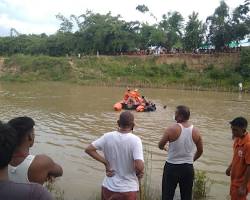
<svg viewBox="0 0 250 200"><path fill-rule="evenodd" d="M165 130L159 142L159 148L162 150L166 150L165 145L169 143L168 158L162 177L162 200L174 198L177 184L180 187L181 199L192 199L193 162L201 156L203 143L199 130L189 123L189 117L190 111L187 106L177 106L177 123Z"/></svg>

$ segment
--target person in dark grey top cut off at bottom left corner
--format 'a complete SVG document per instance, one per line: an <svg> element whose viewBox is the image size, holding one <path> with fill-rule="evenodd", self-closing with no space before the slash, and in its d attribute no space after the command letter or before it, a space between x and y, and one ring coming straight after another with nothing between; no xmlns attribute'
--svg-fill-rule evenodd
<svg viewBox="0 0 250 200"><path fill-rule="evenodd" d="M37 183L14 183L8 179L8 164L17 142L15 129L0 122L0 199L52 200L50 193Z"/></svg>

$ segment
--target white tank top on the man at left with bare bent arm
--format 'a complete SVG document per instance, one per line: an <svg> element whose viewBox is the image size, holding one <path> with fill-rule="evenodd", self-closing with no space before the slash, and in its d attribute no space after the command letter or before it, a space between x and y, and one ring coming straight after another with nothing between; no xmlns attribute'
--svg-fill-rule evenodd
<svg viewBox="0 0 250 200"><path fill-rule="evenodd" d="M30 181L28 178L28 170L34 158L35 158L34 155L28 155L23 160L23 162L21 162L16 167L9 165L8 166L9 180L15 183L29 183Z"/></svg>

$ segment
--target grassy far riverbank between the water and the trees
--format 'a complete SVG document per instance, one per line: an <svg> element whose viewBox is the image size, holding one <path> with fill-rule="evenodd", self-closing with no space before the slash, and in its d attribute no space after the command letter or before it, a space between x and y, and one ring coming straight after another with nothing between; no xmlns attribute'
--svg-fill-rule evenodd
<svg viewBox="0 0 250 200"><path fill-rule="evenodd" d="M95 86L250 91L250 50L241 54L164 56L14 55L1 59L1 81L68 81Z"/></svg>

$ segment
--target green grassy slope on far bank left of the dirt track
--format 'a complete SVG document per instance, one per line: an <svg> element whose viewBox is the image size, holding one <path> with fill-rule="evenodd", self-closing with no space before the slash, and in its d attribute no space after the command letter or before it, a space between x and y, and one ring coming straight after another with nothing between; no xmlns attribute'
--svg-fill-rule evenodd
<svg viewBox="0 0 250 200"><path fill-rule="evenodd" d="M71 73L69 63L65 58L23 55L5 59L4 71L1 80L21 82L68 80Z"/></svg>

